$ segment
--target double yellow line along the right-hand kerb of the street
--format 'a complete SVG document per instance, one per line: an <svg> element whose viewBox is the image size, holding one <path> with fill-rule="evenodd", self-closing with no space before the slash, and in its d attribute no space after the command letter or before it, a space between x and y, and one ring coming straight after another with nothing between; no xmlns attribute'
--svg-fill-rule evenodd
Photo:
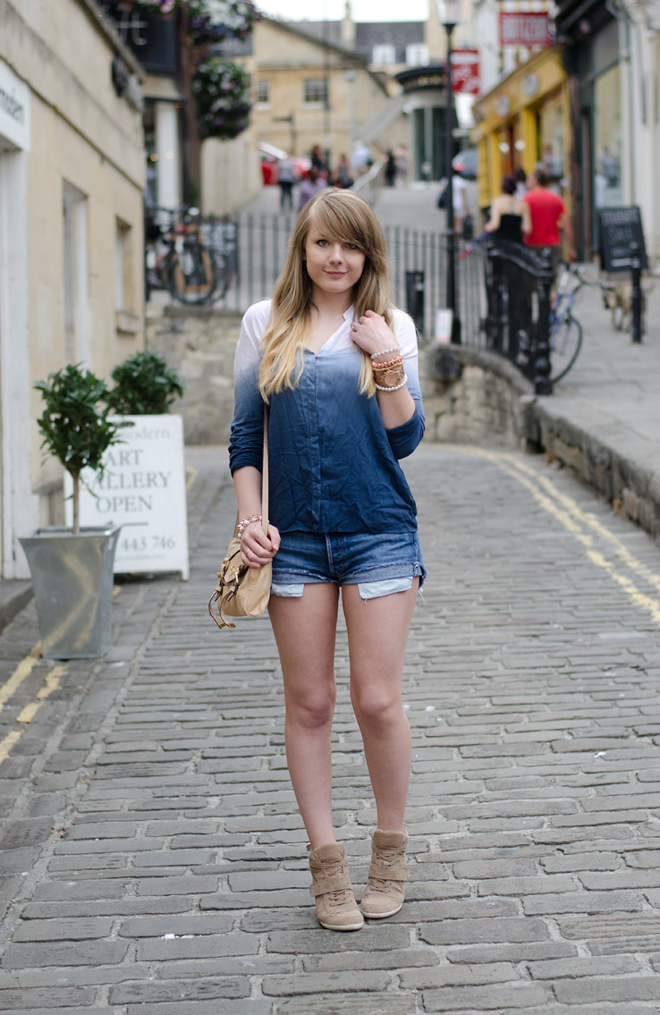
<svg viewBox="0 0 660 1015"><path fill-rule="evenodd" d="M631 553L613 532L584 512L573 497L558 490L548 476L541 475L510 452L460 446L452 446L452 451L492 462L516 479L548 515L574 536L587 559L602 568L625 593L630 602L649 614L660 626L660 598L657 595L660 593L660 574ZM647 591L639 588L642 583Z"/></svg>

